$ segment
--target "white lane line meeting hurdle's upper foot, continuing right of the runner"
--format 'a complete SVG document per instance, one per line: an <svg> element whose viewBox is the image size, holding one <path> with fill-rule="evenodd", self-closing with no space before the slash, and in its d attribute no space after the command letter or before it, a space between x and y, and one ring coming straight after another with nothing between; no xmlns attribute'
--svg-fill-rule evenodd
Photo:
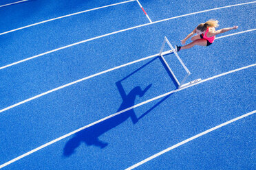
<svg viewBox="0 0 256 170"><path fill-rule="evenodd" d="M248 31L246 31L246 32L248 32ZM244 32L243 32L243 33L244 33ZM228 35L226 35L226 36L228 36ZM225 37L226 37L226 36L225 36ZM220 37L220 38L222 38L222 37ZM215 39L216 39L216 38L215 38ZM49 94L49 93L52 93L52 92L54 92L54 91L56 91L56 90L60 90L61 88L65 88L65 87L67 87L67 86L71 86L71 85L76 84L76 83L78 83L78 82L82 82L82 81L84 81L84 80L88 80L88 79L90 79L90 78L92 78L92 77L96 77L96 76L98 76L98 75L102 75L102 74L104 74L104 73L107 73L107 72L110 72L110 71L114 71L114 70L120 69L120 68L122 68L122 67L124 67L124 66L128 66L128 65L134 64L134 63L136 63L136 62L141 62L141 61L143 61L143 60L147 60L147 59L149 59L149 58L153 58L153 57L156 57L156 56L158 56L158 55L159 55L159 54L156 53L156 54L154 54L154 55L152 55L152 56L148 56L148 57L146 57L146 58L141 58L141 59L135 60L135 61L133 61L133 62L128 62L128 63L126 63L126 64L122 64L122 65L120 65L120 66L116 66L116 67L111 68L111 69L108 69L108 70L106 70L106 71L102 71L102 72L96 73L96 74L94 74L94 75L89 75L88 77L84 77L84 78L82 78L82 79L80 79L80 80L76 80L76 81L74 81L74 82L70 82L69 84L65 84L65 85L63 85L63 86L59 86L59 87L54 88L54 89L52 89L52 90L48 90L48 91L45 92L45 93L41 93L41 94L36 95L36 96L34 96L34 97L31 97L31 98L29 98L29 99L25 99L24 101L20 101L19 103L14 104L14 105L12 105L12 106L8 106L7 108L3 108L3 109L0 110L0 113L1 113L1 112L4 112L4 111L6 111L6 110L9 110L9 109L11 109L11 108L14 108L14 107L16 107L16 106L19 106L19 105L21 105L21 104L25 104L25 103L27 103L28 101L31 101L31 100L33 100L33 99L42 97L42 96L47 95L47 94Z"/></svg>

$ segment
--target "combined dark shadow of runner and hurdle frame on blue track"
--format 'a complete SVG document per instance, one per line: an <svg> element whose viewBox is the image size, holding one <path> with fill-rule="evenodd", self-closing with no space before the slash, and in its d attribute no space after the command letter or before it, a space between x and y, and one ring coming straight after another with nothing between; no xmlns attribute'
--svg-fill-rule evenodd
<svg viewBox="0 0 256 170"><path fill-rule="evenodd" d="M82 143L85 143L87 146L96 146L100 147L101 149L107 147L108 143L105 141L100 141L100 136L102 134L105 134L109 130L117 127L121 123L127 121L127 119L131 118L131 121L133 124L136 124L140 119L145 117L151 110L156 108L159 104L162 103L165 99L167 99L170 95L167 97L164 97L164 99L158 101L157 104L155 104L152 108L147 110L144 114L142 114L140 117L136 116L136 113L134 112L134 104L136 97L142 97L147 93L149 88L151 88L152 84L149 84L145 89L141 89L140 86L134 87L128 94L125 93L125 89L122 86L122 81L126 80L128 77L133 75L134 73L138 72L139 70L143 69L145 66L156 60L157 58L154 58L153 60L147 62L147 64L141 66L139 69L134 71L133 73L127 75L127 77L123 78L122 80L116 82L116 87L118 88L118 91L120 93L120 96L122 97L122 104L120 104L120 107L118 108L118 113L116 116L111 117L109 119L106 119L105 121L101 121L95 125L92 125L90 127L87 127L85 130L81 130L80 132L77 132L74 134L74 136L70 139L70 141L67 141L65 144L65 147L63 149L63 156L69 157L72 154L74 154L76 148L78 148ZM127 111L123 111L127 109Z"/></svg>

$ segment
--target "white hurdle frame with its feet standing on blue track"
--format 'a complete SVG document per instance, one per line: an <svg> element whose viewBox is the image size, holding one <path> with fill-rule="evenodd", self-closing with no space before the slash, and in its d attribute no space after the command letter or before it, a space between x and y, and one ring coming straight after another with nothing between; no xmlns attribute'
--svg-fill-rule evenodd
<svg viewBox="0 0 256 170"><path fill-rule="evenodd" d="M167 44L169 45L169 47L171 47L171 50L169 51L163 51L164 50L164 46L165 46L165 42L167 42ZM179 82L179 80L177 79L177 77L174 75L173 71L171 70L169 64L167 63L167 61L164 59L164 56L166 56L167 54L170 53L174 53L175 56L178 58L178 60L180 61L180 63L182 64L183 68L186 71L186 75L183 78L182 82ZM160 49L160 53L159 56L162 58L162 60L164 61L164 63L166 64L167 68L169 69L169 71L171 72L171 75L173 75L173 78L175 79L175 81L178 84L178 88L184 87L184 86L188 86L190 84L193 84L195 82L199 82L201 79L197 79L197 80L193 80L192 82L186 83L184 84L184 82L186 81L187 77L189 77L189 75L191 75L189 69L186 68L185 64L182 62L182 60L180 59L180 56L178 56L178 53L175 51L175 49L173 48L173 46L171 45L171 43L169 42L169 40L167 39L166 36L164 36L164 42L162 43L162 47Z"/></svg>

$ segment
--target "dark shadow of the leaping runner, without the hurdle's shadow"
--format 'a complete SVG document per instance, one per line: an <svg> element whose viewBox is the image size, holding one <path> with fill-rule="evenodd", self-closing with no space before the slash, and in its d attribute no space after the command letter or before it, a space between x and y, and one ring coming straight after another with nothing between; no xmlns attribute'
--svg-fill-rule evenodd
<svg viewBox="0 0 256 170"><path fill-rule="evenodd" d="M118 82L117 82L117 86L119 86ZM125 96L117 112L120 112L122 110L125 110L126 108L134 106L134 101L136 99L136 96L138 95L142 97L143 95L145 95L145 93L150 87L151 87L151 84L147 86L147 88L145 88L144 90L141 90L139 86L136 86L135 88L133 88L129 92L129 94ZM120 86L118 88L120 88ZM128 110L127 112L121 112L120 114L117 114L116 116L111 117L105 121L101 121L100 123L87 127L85 130L77 132L75 136L66 143L64 147L63 155L71 156L72 154L74 154L75 149L79 147L79 145L81 145L81 143L85 143L88 146L94 145L100 148L106 147L108 143L104 141L100 141L99 139L100 135L120 125L121 123L126 121L128 118L131 118L131 121L134 124L138 122L138 119L136 117L134 110L131 109L131 110Z"/></svg>

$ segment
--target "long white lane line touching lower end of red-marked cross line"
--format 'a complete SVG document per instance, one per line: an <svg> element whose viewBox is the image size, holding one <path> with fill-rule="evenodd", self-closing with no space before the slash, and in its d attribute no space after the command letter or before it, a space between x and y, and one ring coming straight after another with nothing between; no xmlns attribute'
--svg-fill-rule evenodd
<svg viewBox="0 0 256 170"><path fill-rule="evenodd" d="M44 56L44 55L46 55L46 54L48 54L48 53L53 53L53 52L59 51L59 50L61 50L61 49L66 49L66 48L68 48L68 47L73 47L73 46L75 46L75 45L80 45L80 44L82 44L82 43L84 43L84 42L88 42L88 41L91 41L91 40L96 40L96 39L98 39L98 38L103 38L103 37L105 37L105 36L111 36L111 35L113 35L113 34L118 34L118 33L120 33L120 32L126 32L126 31L129 31L129 30L131 30L131 29L136 29L136 28L139 28L139 27L144 27L144 26L147 26L147 25L151 25L151 24L155 24L155 23L160 23L160 22L163 22L163 21L169 21L169 20L171 20L171 19L178 19L178 18L180 18L180 17L189 16L189 15L193 15L193 14L199 14L199 13L202 13L202 12L209 12L209 11L212 11L212 10L220 10L220 9L223 9L223 8L230 8L230 7L234 7L234 6L238 6L238 5L247 5L247 4L255 3L255 2L256 2L256 1L249 2L249 3L239 3L239 4L237 4L237 5L228 5L228 6L221 7L221 8L213 8L213 9L211 9L211 10L204 10L204 11L200 11L200 12L194 12L194 13L190 13L190 14L184 14L184 15L180 15L180 16L171 17L171 18L169 18L169 19L163 19L163 20L160 20L160 21L155 21L155 22L153 22L153 23L146 23L146 24L142 24L142 25L135 26L135 27L129 27L129 28L127 28L127 29L121 29L121 30L116 31L116 32L111 32L111 33L109 33L109 34L104 34L104 35L102 35L102 36L96 36L96 37L94 37L94 38L89 38L89 39L87 39L87 40L82 40L82 41L80 41L80 42L76 42L76 43L73 43L73 44L71 44L71 45L66 45L66 46L60 47L60 48L58 48L58 49L53 49L53 50L51 50L51 51L47 51L47 52L45 52L45 53L41 53L41 54L39 54L39 55L32 56L32 57L30 57L30 58L25 58L25 59L23 59L23 60L19 60L18 62L13 62L12 64L8 64L8 65L6 65L6 66L1 66L1 67L0 67L0 70L1 70L1 69L6 69L6 68L8 68L9 66L13 66L13 65L19 64L19 63L21 63L21 62L25 62L25 61L28 61L28 60L32 60L32 59L34 59L34 58L38 58L39 56Z"/></svg>

